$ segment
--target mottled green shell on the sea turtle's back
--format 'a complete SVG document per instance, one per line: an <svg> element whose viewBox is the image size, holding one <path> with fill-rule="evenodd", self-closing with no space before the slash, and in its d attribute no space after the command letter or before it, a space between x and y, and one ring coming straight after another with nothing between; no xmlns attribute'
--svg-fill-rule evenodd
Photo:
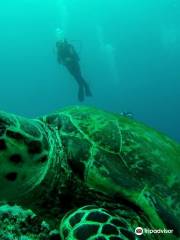
<svg viewBox="0 0 180 240"><path fill-rule="evenodd" d="M96 108L70 107L60 115L70 164L88 187L128 200L156 228L180 235L179 145L134 119Z"/></svg>

